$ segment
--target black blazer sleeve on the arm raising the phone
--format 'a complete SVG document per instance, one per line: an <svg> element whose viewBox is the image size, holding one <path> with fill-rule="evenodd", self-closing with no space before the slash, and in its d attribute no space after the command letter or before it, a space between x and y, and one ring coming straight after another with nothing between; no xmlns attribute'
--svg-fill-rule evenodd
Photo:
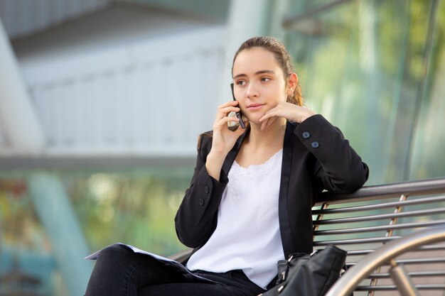
<svg viewBox="0 0 445 296"><path fill-rule="evenodd" d="M178 239L190 248L202 246L215 231L218 207L228 182L221 171L220 181L208 175L205 160L212 138L200 135L198 155L190 187L176 212L175 227Z"/></svg>

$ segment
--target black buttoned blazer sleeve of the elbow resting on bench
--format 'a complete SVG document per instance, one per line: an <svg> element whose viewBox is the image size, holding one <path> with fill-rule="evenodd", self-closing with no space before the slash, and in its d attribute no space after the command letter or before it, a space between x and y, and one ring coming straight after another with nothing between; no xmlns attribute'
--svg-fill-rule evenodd
<svg viewBox="0 0 445 296"><path fill-rule="evenodd" d="M340 129L323 116L309 117L295 128L294 133L316 157L314 173L321 190L350 193L368 180L368 165L362 162Z"/></svg>

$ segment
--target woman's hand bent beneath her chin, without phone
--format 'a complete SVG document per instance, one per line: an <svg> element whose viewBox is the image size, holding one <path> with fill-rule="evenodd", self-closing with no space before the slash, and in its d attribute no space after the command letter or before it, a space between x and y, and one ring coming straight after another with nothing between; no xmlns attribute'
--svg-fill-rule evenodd
<svg viewBox="0 0 445 296"><path fill-rule="evenodd" d="M302 121L316 113L306 107L298 106L288 102L279 102L277 106L269 111L259 119L261 122L261 130L264 131L277 119L277 117L283 117L289 121L294 121L301 124Z"/></svg>

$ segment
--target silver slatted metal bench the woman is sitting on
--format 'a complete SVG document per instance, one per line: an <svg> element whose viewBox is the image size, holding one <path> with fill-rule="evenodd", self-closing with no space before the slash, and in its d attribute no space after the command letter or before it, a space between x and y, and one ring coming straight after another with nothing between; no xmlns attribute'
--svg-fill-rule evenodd
<svg viewBox="0 0 445 296"><path fill-rule="evenodd" d="M349 268L358 265L348 270L338 285L347 285L355 296L416 295L401 291L393 283L390 272L400 265L399 269L407 270L417 295L444 296L445 243L428 241L414 247L415 241L409 238L429 227L445 232L445 178L368 186L352 194L323 192L319 200L312 209L314 249L336 245L348 251ZM397 240L404 240L404 244ZM396 253L387 251L394 255L391 260L377 261L375 256L385 256L376 250L383 245L387 248L391 242L403 248ZM186 251L172 258L181 261L188 254ZM360 262L369 260L375 263L372 272L355 278L357 283L346 278L350 271L363 271L358 269L363 268ZM331 289L330 293L343 296L348 295L348 290Z"/></svg>

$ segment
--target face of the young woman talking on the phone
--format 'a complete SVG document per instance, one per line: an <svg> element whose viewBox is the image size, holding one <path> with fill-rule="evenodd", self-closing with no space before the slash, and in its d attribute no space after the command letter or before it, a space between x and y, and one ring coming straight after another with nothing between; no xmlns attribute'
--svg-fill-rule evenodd
<svg viewBox="0 0 445 296"><path fill-rule="evenodd" d="M264 48L242 50L233 63L235 98L242 113L259 124L259 119L277 106L286 102L286 80L274 54Z"/></svg>

